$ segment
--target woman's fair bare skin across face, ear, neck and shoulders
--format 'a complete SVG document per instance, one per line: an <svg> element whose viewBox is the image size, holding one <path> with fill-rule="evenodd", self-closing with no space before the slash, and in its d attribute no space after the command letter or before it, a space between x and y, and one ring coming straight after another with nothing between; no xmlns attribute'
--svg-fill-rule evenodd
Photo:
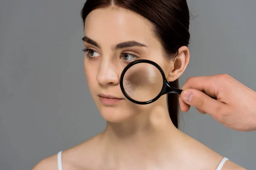
<svg viewBox="0 0 256 170"><path fill-rule="evenodd" d="M189 62L187 47L179 49L173 60L163 57L159 40L150 23L138 14L122 8L99 8L86 18L84 35L99 47L84 42L94 57L84 58L84 72L92 98L106 129L93 138L65 150L63 170L216 170L223 158L204 144L176 129L169 118L166 96L149 105L135 105L122 95L119 78L125 67L122 53L157 62L169 81L174 81ZM114 45L137 41L147 47L113 50ZM129 58L129 62L134 57ZM99 94L111 94L122 100L115 105L103 105ZM93 114L93 113L86 113ZM231 164L231 165L229 165ZM228 161L228 169L240 167ZM57 170L57 156L40 161L33 170ZM242 168L240 168L242 169Z"/></svg>

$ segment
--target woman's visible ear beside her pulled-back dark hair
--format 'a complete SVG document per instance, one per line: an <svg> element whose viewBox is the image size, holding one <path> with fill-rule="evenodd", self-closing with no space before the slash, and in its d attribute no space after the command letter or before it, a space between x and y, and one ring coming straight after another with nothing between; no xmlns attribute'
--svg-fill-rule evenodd
<svg viewBox="0 0 256 170"><path fill-rule="evenodd" d="M167 80L173 82L180 77L185 71L187 65L189 64L189 48L182 46L178 50L177 56L172 60L172 67L167 75Z"/></svg>

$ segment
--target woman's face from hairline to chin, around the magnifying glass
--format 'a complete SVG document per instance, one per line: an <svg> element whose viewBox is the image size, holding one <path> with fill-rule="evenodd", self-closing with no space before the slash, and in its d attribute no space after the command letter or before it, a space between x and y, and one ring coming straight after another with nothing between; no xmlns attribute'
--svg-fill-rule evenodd
<svg viewBox="0 0 256 170"><path fill-rule="evenodd" d="M157 104L136 105L125 98L119 86L122 70L135 59L152 60L165 74L172 69L145 18L122 8L96 9L86 18L83 40L87 83L104 119L122 122Z"/></svg>

